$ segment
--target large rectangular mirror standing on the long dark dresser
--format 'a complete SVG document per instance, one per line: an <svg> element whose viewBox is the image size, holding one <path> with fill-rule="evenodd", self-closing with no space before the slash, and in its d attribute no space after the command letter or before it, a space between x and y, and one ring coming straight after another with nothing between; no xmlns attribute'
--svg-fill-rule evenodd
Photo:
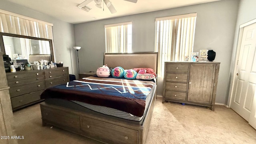
<svg viewBox="0 0 256 144"><path fill-rule="evenodd" d="M54 61L52 40L0 32L1 51L11 60L30 60L30 56L49 56ZM41 58L41 57L38 57ZM34 60L34 57L33 57Z"/></svg>

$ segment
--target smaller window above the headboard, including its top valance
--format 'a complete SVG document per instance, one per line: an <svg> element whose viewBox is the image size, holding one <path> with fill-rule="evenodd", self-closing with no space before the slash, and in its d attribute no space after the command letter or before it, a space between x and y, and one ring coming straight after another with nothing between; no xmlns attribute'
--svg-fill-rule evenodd
<svg viewBox="0 0 256 144"><path fill-rule="evenodd" d="M132 22L105 26L106 52L132 52Z"/></svg>

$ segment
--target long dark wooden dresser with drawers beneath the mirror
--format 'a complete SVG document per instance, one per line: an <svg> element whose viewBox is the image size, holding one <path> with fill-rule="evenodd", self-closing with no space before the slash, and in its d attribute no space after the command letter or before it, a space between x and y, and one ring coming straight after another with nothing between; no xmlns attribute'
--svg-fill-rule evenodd
<svg viewBox="0 0 256 144"><path fill-rule="evenodd" d="M7 72L6 78L10 86L12 110L42 101L42 92L57 84L69 81L68 67L57 67L46 70L23 70Z"/></svg>

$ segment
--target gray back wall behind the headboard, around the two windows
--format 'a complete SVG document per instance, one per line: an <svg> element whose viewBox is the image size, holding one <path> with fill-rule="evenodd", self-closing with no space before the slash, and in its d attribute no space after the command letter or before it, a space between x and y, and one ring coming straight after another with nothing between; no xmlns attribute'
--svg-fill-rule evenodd
<svg viewBox="0 0 256 144"><path fill-rule="evenodd" d="M230 60L236 27L239 0L221 0L206 4L184 6L156 12L110 18L74 24L76 46L79 50L80 72L96 71L103 63L105 52L104 25L132 21L133 52L154 51L155 18L197 13L194 51L212 49L220 62L216 103L226 103ZM158 95L162 95L163 78L158 78Z"/></svg>

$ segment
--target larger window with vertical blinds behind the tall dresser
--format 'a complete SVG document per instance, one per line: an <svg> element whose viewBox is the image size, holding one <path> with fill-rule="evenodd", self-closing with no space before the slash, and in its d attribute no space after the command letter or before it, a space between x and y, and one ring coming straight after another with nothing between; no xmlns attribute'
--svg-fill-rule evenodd
<svg viewBox="0 0 256 144"><path fill-rule="evenodd" d="M158 76L164 76L165 61L184 61L193 52L195 28L196 13L156 18Z"/></svg>

